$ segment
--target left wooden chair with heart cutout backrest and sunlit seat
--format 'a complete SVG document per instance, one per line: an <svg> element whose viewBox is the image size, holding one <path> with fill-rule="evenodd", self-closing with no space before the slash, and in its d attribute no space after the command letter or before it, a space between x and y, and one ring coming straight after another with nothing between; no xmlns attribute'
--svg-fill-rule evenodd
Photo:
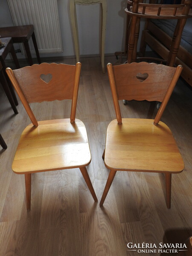
<svg viewBox="0 0 192 256"><path fill-rule="evenodd" d="M34 172L79 168L94 201L97 201L86 169L91 161L86 128L83 122L75 119L80 70L81 63L76 66L42 63L18 70L6 69L32 121L21 134L12 164L13 172L25 175L28 210L31 207L31 174ZM37 122L29 103L55 99L72 99L70 118Z"/></svg>

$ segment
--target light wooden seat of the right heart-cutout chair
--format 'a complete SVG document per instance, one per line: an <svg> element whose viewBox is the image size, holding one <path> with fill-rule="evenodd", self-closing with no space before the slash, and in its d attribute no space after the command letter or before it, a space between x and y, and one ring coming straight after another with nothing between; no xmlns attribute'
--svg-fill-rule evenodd
<svg viewBox="0 0 192 256"><path fill-rule="evenodd" d="M111 170L171 172L184 169L183 159L169 127L153 119L113 120L105 147L105 166Z"/></svg>

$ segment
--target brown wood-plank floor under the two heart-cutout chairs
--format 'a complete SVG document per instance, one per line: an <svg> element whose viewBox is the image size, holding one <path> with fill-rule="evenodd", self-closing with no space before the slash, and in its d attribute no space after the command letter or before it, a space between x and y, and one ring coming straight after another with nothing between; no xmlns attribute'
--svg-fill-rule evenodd
<svg viewBox="0 0 192 256"><path fill-rule="evenodd" d="M60 62L75 64L75 59ZM99 58L82 58L81 63L76 117L87 128L92 152L87 170L100 201L109 174L102 160L105 135L115 112ZM146 118L150 106L146 101L120 105L123 117L132 118ZM31 106L38 120L65 118L70 113L70 101ZM80 170L70 169L33 174L32 208L27 212L24 176L14 174L11 167L20 134L30 123L20 101L18 111L13 113L0 86L0 133L8 145L6 150L0 148L0 256L165 255L128 251L127 244L158 247L160 242L179 243L192 235L192 90L182 81L162 118L185 162L184 171L172 175L171 209L166 208L161 174L117 172L100 208Z"/></svg>

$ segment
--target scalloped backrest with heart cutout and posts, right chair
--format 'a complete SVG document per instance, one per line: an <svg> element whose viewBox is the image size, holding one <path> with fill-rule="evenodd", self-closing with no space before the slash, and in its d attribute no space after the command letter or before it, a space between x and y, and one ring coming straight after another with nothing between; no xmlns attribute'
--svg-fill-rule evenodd
<svg viewBox="0 0 192 256"><path fill-rule="evenodd" d="M181 65L176 68L147 62L117 66L108 63L107 68L117 122L122 123L118 100L148 100L162 102L154 119L155 125L160 121L183 69Z"/></svg>

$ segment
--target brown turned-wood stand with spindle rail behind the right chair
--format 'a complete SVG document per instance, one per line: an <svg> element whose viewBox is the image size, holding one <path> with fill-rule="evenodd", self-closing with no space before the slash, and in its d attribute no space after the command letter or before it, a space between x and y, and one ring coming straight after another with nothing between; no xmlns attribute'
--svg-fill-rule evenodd
<svg viewBox="0 0 192 256"><path fill-rule="evenodd" d="M177 26L172 38L169 56L166 60L166 64L173 67L186 19L192 17L192 11L190 10L192 0L182 0L181 4L143 3L143 0L128 0L127 2L128 7L125 9L125 12L128 16L130 16L131 20L131 28L128 39L128 63L134 62L137 59L137 42L140 32L140 18L146 19L144 31L147 29L149 19L176 19ZM140 47L141 54L144 54L145 46L145 42L142 39Z"/></svg>

